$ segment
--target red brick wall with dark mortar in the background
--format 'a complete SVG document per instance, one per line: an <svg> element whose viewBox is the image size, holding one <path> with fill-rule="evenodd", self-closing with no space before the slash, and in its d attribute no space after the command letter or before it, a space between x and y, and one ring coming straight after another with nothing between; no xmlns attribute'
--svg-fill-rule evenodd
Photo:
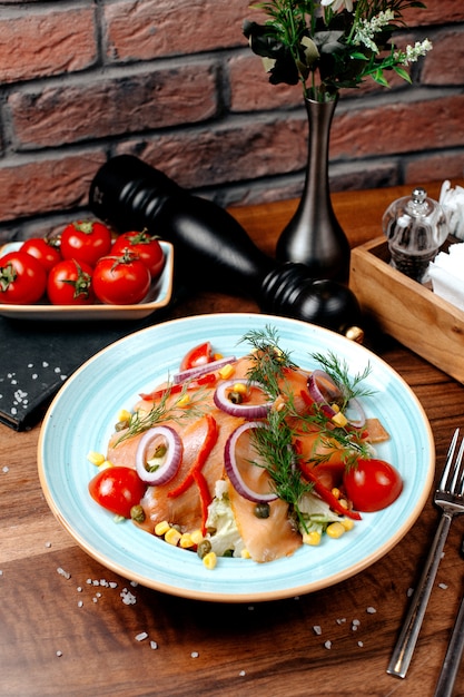
<svg viewBox="0 0 464 697"><path fill-rule="evenodd" d="M333 190L464 174L464 3L425 2L398 37L434 42L413 86L337 106ZM268 84L241 35L253 16L247 0L0 1L0 240L82 215L119 153L224 206L298 196L300 89Z"/></svg>

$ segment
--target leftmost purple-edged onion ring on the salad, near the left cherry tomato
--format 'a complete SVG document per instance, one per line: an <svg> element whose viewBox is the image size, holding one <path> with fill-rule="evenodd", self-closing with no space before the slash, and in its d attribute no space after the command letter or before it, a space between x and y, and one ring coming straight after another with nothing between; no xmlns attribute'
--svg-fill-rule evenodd
<svg viewBox="0 0 464 697"><path fill-rule="evenodd" d="M162 464L154 472L146 468L148 449L155 441L166 442L166 457ZM176 477L182 459L184 445L180 436L170 426L154 426L149 429L140 439L136 452L136 469L141 481L147 484L166 484Z"/></svg>

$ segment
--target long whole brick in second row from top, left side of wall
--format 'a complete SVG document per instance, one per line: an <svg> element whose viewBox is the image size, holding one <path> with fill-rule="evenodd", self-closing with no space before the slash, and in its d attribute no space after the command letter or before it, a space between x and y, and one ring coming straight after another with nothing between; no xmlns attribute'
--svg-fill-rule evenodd
<svg viewBox="0 0 464 697"><path fill-rule="evenodd" d="M209 65L189 63L21 90L8 106L19 147L58 146L208 119L217 111L216 75Z"/></svg>

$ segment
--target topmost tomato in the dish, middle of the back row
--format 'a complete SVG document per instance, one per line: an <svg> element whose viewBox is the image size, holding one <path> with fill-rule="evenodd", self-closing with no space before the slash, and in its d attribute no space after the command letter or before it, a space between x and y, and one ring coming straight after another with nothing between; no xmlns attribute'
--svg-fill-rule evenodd
<svg viewBox="0 0 464 697"><path fill-rule="evenodd" d="M111 230L98 220L70 223L61 233L61 256L95 266L111 249Z"/></svg>

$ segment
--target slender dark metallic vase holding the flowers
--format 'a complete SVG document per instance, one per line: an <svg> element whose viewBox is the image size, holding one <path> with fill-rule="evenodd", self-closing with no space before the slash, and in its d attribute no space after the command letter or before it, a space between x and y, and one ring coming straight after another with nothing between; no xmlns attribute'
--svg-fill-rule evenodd
<svg viewBox="0 0 464 697"><path fill-rule="evenodd" d="M313 278L347 283L349 243L332 207L328 180L328 148L337 99L305 99L308 117L308 158L298 208L282 233L276 256L283 262L305 264Z"/></svg>

